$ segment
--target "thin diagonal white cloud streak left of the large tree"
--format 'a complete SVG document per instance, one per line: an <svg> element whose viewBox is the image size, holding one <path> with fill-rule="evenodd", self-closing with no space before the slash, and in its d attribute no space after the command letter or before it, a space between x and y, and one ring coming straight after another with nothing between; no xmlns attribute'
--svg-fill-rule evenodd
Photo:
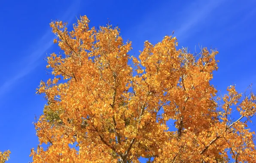
<svg viewBox="0 0 256 163"><path fill-rule="evenodd" d="M61 16L61 20L70 22L75 17L76 12L79 9L79 3L80 0L77 0L74 2L69 9L67 9L67 12L64 16ZM74 12L75 11L75 12ZM0 85L0 96L5 94L7 91L9 91L15 83L18 82L19 79L23 78L24 76L28 75L33 69L35 69L39 64L38 60L42 57L43 54L46 53L46 51L52 47L53 45L53 39L55 38L54 34L52 34L52 31L49 29L46 31L46 33L32 45L32 47L35 47L37 50L31 51L30 55L26 58L23 58L25 66L17 67L19 71L12 75L11 78L8 78L5 82L3 82L3 85Z"/></svg>

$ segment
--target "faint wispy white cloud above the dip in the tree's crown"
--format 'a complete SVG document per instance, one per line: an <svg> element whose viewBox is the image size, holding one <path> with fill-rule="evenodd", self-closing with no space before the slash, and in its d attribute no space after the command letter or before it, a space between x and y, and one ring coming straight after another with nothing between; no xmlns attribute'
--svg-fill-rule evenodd
<svg viewBox="0 0 256 163"><path fill-rule="evenodd" d="M140 23L134 26L130 32L137 33L136 40L149 39L151 42L158 42L163 36L171 35L174 30L174 35L184 41L195 30L200 30L205 19L225 1L196 0L184 3L184 6L175 6L176 4L172 4L170 1L143 15Z"/></svg>

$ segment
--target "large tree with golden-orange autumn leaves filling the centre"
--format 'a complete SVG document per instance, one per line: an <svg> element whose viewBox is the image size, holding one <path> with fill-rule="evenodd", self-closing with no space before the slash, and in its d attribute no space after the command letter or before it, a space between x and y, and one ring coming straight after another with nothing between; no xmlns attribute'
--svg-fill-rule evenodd
<svg viewBox="0 0 256 163"><path fill-rule="evenodd" d="M137 59L118 27L88 23L82 16L70 32L67 23L50 24L61 51L47 57L54 77L37 89L47 105L35 123L40 145L31 151L34 162L256 160L255 133L247 127L256 96L242 96L233 85L216 95L210 80L217 51L177 50L176 37L165 36L156 45L146 41ZM168 120L177 130L168 130Z"/></svg>

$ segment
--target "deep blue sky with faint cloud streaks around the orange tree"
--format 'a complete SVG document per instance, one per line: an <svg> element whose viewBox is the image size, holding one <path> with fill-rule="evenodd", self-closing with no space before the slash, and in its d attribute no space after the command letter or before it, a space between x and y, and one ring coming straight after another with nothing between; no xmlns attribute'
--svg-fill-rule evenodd
<svg viewBox="0 0 256 163"><path fill-rule="evenodd" d="M50 77L46 54L58 51L51 20L72 24L76 16L87 15L91 27L110 21L132 41L135 56L145 40L157 43L175 30L179 47L199 51L200 43L218 49L212 83L225 93L232 84L238 91L256 84L255 6L255 0L1 1L0 151L12 151L8 163L27 163L30 149L37 147L32 122L46 101L35 89Z"/></svg>

